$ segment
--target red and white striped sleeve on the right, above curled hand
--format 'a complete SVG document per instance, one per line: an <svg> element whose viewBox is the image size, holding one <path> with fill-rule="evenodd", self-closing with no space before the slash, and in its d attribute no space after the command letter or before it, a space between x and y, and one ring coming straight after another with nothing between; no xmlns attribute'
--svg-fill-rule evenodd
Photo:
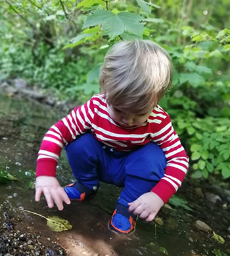
<svg viewBox="0 0 230 256"><path fill-rule="evenodd" d="M151 134L153 143L162 148L166 156L166 169L162 179L154 186L151 191L156 193L164 203L167 203L170 197L181 186L181 183L187 173L189 158L183 148L177 133L172 127L170 116L164 112L166 118L158 128Z"/></svg>

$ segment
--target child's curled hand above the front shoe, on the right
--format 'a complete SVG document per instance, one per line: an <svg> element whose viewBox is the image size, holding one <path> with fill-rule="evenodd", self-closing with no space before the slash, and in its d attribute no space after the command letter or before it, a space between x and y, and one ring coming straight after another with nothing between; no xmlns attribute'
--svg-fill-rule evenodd
<svg viewBox="0 0 230 256"><path fill-rule="evenodd" d="M139 215L139 218L150 222L164 205L164 201L155 193L148 192L138 197L137 200L128 203L128 205L129 211L133 212L135 215Z"/></svg>

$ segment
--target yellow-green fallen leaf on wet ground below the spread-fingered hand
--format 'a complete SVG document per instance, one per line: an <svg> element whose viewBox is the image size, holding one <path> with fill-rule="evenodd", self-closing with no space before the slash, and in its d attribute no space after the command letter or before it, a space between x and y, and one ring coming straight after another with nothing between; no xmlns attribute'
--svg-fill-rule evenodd
<svg viewBox="0 0 230 256"><path fill-rule="evenodd" d="M64 218L58 216L48 216L47 226L55 232L71 230L73 227L68 220L64 220Z"/></svg>

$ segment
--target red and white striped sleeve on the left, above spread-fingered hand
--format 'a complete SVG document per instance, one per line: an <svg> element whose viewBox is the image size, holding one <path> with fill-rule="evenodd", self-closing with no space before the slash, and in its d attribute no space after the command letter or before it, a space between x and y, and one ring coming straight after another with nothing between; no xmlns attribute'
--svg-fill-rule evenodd
<svg viewBox="0 0 230 256"><path fill-rule="evenodd" d="M91 129L94 117L93 98L53 125L46 133L37 157L37 176L54 176L63 146Z"/></svg>

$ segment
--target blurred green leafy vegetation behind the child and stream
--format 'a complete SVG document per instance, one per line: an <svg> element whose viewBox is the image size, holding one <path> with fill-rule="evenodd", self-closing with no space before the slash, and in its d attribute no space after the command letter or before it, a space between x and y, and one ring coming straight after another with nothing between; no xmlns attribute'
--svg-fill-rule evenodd
<svg viewBox="0 0 230 256"><path fill-rule="evenodd" d="M160 105L191 156L194 178L230 177L229 0L5 0L0 81L25 79L61 100L99 93L106 51L144 38L172 56L173 87Z"/></svg>

